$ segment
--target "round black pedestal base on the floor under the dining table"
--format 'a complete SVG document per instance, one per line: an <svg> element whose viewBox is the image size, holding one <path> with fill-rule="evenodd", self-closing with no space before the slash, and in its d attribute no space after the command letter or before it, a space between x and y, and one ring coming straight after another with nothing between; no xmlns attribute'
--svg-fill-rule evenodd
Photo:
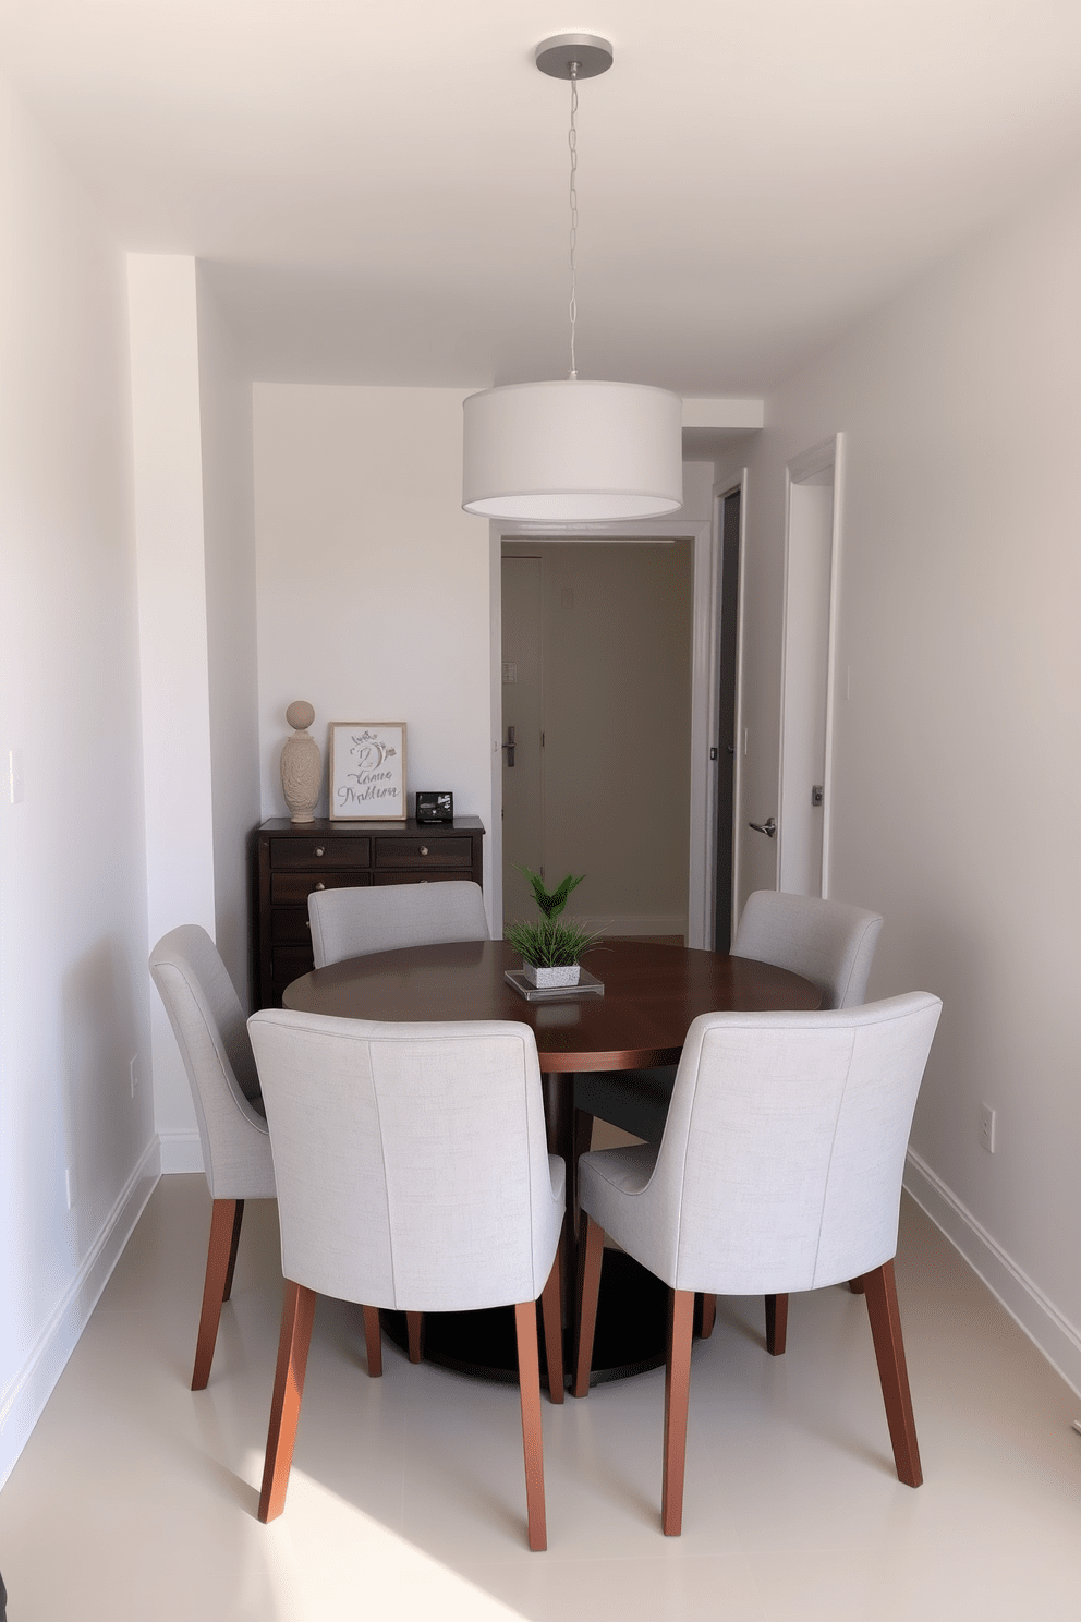
<svg viewBox="0 0 1081 1622"><path fill-rule="evenodd" d="M590 1385L624 1380L664 1362L664 1322L668 1289L624 1251L605 1251L601 1294L593 1341ZM382 1312L391 1340L408 1346L404 1312ZM540 1324L540 1306L538 1306ZM574 1366L574 1332L564 1332L567 1379ZM548 1384L545 1340L540 1337L541 1382ZM425 1359L481 1380L517 1385L519 1358L514 1337L514 1307L483 1312L426 1312Z"/></svg>

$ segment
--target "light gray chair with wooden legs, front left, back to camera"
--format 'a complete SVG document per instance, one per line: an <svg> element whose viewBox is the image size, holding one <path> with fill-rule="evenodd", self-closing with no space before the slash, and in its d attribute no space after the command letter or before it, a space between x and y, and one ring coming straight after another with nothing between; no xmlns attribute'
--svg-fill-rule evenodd
<svg viewBox="0 0 1081 1622"><path fill-rule="evenodd" d="M564 1163L546 1147L533 1032L280 1009L253 1014L248 1028L285 1275L259 1520L285 1505L316 1294L373 1314L514 1306L528 1541L545 1549L536 1301L561 1403Z"/></svg>

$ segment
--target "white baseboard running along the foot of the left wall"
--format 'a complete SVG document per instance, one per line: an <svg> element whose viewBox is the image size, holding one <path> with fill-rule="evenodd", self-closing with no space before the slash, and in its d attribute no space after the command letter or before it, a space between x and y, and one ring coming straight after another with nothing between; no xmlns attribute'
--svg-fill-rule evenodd
<svg viewBox="0 0 1081 1622"><path fill-rule="evenodd" d="M160 1152L154 1139L105 1216L78 1273L42 1327L29 1358L11 1385L0 1393L0 1487L11 1474L63 1374L159 1176Z"/></svg>

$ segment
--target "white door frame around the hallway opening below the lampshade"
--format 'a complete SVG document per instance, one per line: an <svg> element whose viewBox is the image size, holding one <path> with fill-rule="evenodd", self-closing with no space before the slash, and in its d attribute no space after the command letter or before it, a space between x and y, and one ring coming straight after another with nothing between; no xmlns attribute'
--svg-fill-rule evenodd
<svg viewBox="0 0 1081 1622"><path fill-rule="evenodd" d="M731 485L729 485L731 488ZM690 540L694 545L694 587L690 607L690 827L687 873L687 946L705 947L713 926L713 861L716 772L710 748L716 743L716 592L718 530L716 500L707 521L658 519L650 524L509 524L488 526L488 603L491 668L491 843L489 910L493 934L502 934L502 597L501 560L504 540ZM742 537L741 537L742 543Z"/></svg>

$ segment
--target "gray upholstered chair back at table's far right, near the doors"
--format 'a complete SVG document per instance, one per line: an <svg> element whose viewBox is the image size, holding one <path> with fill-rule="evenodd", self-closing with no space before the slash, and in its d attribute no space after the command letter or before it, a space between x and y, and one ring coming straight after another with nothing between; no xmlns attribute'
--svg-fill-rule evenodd
<svg viewBox="0 0 1081 1622"><path fill-rule="evenodd" d="M823 1007L856 1007L867 996L867 978L882 931L882 913L815 895L755 890L747 897L733 957L755 957L814 980L825 993Z"/></svg>

